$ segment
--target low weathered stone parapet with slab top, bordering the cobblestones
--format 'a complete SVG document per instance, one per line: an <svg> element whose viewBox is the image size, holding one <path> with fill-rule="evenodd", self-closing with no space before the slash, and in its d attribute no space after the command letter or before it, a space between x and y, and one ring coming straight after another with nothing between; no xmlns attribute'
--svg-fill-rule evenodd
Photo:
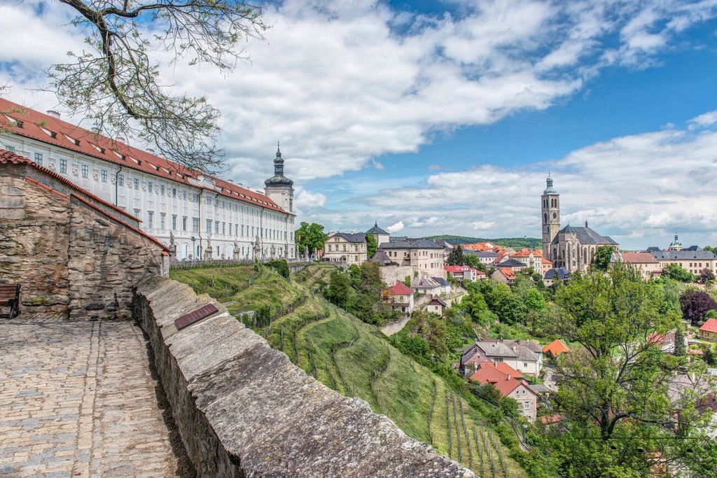
<svg viewBox="0 0 717 478"><path fill-rule="evenodd" d="M219 312L176 330L212 303ZM358 398L346 398L212 298L161 277L136 287L134 314L187 453L201 477L473 477L406 436Z"/></svg>

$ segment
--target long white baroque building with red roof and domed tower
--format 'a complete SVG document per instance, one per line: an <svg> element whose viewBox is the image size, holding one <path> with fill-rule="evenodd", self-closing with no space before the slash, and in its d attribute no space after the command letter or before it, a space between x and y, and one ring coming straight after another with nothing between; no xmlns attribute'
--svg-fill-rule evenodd
<svg viewBox="0 0 717 478"><path fill-rule="evenodd" d="M45 166L141 220L182 259L295 258L293 181L277 148L265 193L191 171L0 98L0 148ZM4 130L4 131L3 131Z"/></svg>

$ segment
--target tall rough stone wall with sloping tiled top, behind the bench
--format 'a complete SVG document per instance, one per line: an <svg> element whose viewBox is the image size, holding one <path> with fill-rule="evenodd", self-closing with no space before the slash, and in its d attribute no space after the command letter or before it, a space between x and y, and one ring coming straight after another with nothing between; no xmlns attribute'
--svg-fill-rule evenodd
<svg viewBox="0 0 717 478"><path fill-rule="evenodd" d="M166 249L124 214L110 215L110 205L24 158L4 163L7 155L0 157L0 281L22 284L21 312L129 320L133 285L166 274Z"/></svg>

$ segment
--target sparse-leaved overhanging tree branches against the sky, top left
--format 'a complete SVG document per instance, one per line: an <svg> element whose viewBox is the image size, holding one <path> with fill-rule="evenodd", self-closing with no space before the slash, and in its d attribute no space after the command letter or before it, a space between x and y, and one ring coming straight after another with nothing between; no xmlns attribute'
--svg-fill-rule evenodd
<svg viewBox="0 0 717 478"><path fill-rule="evenodd" d="M60 0L77 13L82 52L49 67L48 89L71 115L110 138L136 137L177 163L218 171L214 145L219 111L204 97L161 85L161 52L173 62L211 64L231 72L246 59L245 39L262 39L262 6L231 0ZM151 24L151 29L148 25Z"/></svg>

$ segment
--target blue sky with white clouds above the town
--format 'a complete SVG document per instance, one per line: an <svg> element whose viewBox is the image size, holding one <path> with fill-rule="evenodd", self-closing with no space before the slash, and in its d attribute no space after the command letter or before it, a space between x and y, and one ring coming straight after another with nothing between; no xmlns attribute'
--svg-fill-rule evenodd
<svg viewBox="0 0 717 478"><path fill-rule="evenodd" d="M84 47L70 14L0 2L9 100L62 113L39 89ZM717 245L717 0L285 0L264 18L229 75L157 59L222 110L225 178L262 188L280 140L297 221L540 237L550 173L561 225Z"/></svg>

